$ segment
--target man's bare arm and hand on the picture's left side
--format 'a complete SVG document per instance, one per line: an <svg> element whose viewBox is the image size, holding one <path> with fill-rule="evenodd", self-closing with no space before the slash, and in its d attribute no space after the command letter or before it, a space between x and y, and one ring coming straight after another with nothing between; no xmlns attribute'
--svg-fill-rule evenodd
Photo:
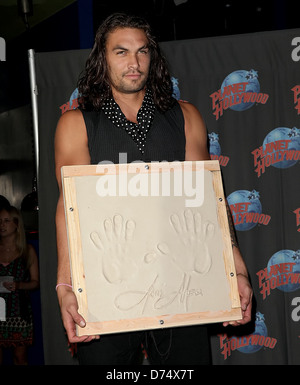
<svg viewBox="0 0 300 385"><path fill-rule="evenodd" d="M67 229L65 223L64 203L61 181L61 167L90 164L88 140L82 113L79 110L68 111L60 118L55 134L55 171L59 186L59 199L56 209L57 237L57 283L71 285ZM88 341L92 337L77 337L76 324L85 325L78 313L78 305L73 291L67 286L57 288L64 327L70 342Z"/></svg>

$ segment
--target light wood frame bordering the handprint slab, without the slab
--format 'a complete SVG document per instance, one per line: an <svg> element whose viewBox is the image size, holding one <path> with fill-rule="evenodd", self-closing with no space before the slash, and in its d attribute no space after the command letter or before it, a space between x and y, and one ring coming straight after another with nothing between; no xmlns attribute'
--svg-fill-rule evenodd
<svg viewBox="0 0 300 385"><path fill-rule="evenodd" d="M215 193L215 208L217 212L218 225L221 232L221 238L219 242L222 243L222 257L219 258L221 265L224 265L225 281L228 285L229 296L230 296L230 308L224 309L221 306L217 310L213 308L207 309L206 311L193 311L193 312L179 312L177 314L168 314L162 312L162 314L156 314L153 316L139 316L135 318L126 318L120 316L119 319L112 320L92 320L89 321L89 310L88 310L88 294L87 294L87 280L85 272L85 258L88 256L84 255L82 246L82 238L84 234L84 223L82 223L80 217L79 205L84 209L84 202L78 201L76 180L78 177L84 181L88 181L89 178L107 174L118 174L120 170L128 172L130 165L105 165L99 169L97 165L88 166L64 166L62 167L62 181L63 181L63 192L65 202L65 216L66 225L68 232L69 242L69 257L72 274L72 285L73 291L77 297L79 312L87 320L85 328L77 329L78 335L94 335L94 334L107 334L116 332L126 332L133 330L146 330L146 329L157 329L164 327L177 327L195 324L206 324L224 322L230 320L238 320L242 318L240 298L237 288L236 271L232 253L231 237L229 231L227 210L225 197L223 192L223 185L221 179L221 171L218 161L199 161L199 162L178 162L179 167L184 165L188 169L195 171L198 167L202 167L208 170L212 174L212 188ZM159 167L163 167L164 162L159 163ZM167 164L167 163L166 163ZM157 165L157 164L156 164ZM157 170L157 166L153 163L141 163L136 165L138 173L145 172L151 173ZM178 165L177 165L178 166ZM169 167L169 166L168 166ZM176 167L175 167L176 168ZM174 168L174 169L175 169ZM132 172L132 165L130 172ZM169 168L170 169L170 168ZM100 170L100 171L99 171ZM102 170L102 171L101 171ZM141 171L142 170L142 171ZM172 172L172 169L171 169ZM81 182L80 182L81 183ZM100 206L99 206L100 202ZM97 200L95 203L95 210L101 212L101 205L105 205L105 198ZM146 229L145 229L146 230ZM151 230L149 230L151 231ZM215 297L218 297L218 292L223 290L222 287L216 287ZM100 289L101 290L101 289ZM109 294L108 294L109 295Z"/></svg>

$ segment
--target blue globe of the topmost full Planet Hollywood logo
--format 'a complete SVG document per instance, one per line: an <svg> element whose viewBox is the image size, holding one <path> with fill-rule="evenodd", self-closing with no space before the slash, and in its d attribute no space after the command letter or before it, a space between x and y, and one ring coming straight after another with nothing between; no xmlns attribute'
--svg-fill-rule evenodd
<svg viewBox="0 0 300 385"><path fill-rule="evenodd" d="M245 70L238 70L234 71L231 74L229 74L223 81L221 85L221 92L222 94L224 93L225 90L229 90L229 86L232 86L234 84L239 84L239 83L248 83L245 87L245 89L238 94L239 97L242 97L243 93L247 92L253 92L253 93L259 93L260 92L260 84L258 81L258 74L257 71L255 70L250 70L250 71L245 71ZM228 87L228 88L226 88ZM233 92L230 93L230 95L225 96L225 98L234 98ZM255 102L241 102L235 105L230 106L229 108L234 111L245 111L251 108Z"/></svg>

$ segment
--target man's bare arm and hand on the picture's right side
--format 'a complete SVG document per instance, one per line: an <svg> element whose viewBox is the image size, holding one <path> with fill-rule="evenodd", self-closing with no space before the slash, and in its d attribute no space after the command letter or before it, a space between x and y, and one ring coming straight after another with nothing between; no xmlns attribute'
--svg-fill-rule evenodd
<svg viewBox="0 0 300 385"><path fill-rule="evenodd" d="M210 155L207 146L207 131L201 114L190 103L180 102L180 106L185 120L185 160L209 160ZM232 216L227 202L226 205L243 319L238 322L226 322L224 323L224 326L227 326L228 324L239 325L249 322L251 320L252 304L252 288L248 280L247 268L236 242Z"/></svg>

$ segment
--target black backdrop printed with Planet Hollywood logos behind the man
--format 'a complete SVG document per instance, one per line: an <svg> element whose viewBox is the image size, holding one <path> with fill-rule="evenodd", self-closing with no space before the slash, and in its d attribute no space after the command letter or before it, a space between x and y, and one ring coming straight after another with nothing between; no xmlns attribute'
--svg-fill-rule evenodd
<svg viewBox="0 0 300 385"><path fill-rule="evenodd" d="M174 95L200 110L254 289L253 322L210 325L213 363L300 364L300 29L164 42ZM89 50L37 53L46 364L76 364L57 304L53 138ZM217 291L217 288L216 288Z"/></svg>

